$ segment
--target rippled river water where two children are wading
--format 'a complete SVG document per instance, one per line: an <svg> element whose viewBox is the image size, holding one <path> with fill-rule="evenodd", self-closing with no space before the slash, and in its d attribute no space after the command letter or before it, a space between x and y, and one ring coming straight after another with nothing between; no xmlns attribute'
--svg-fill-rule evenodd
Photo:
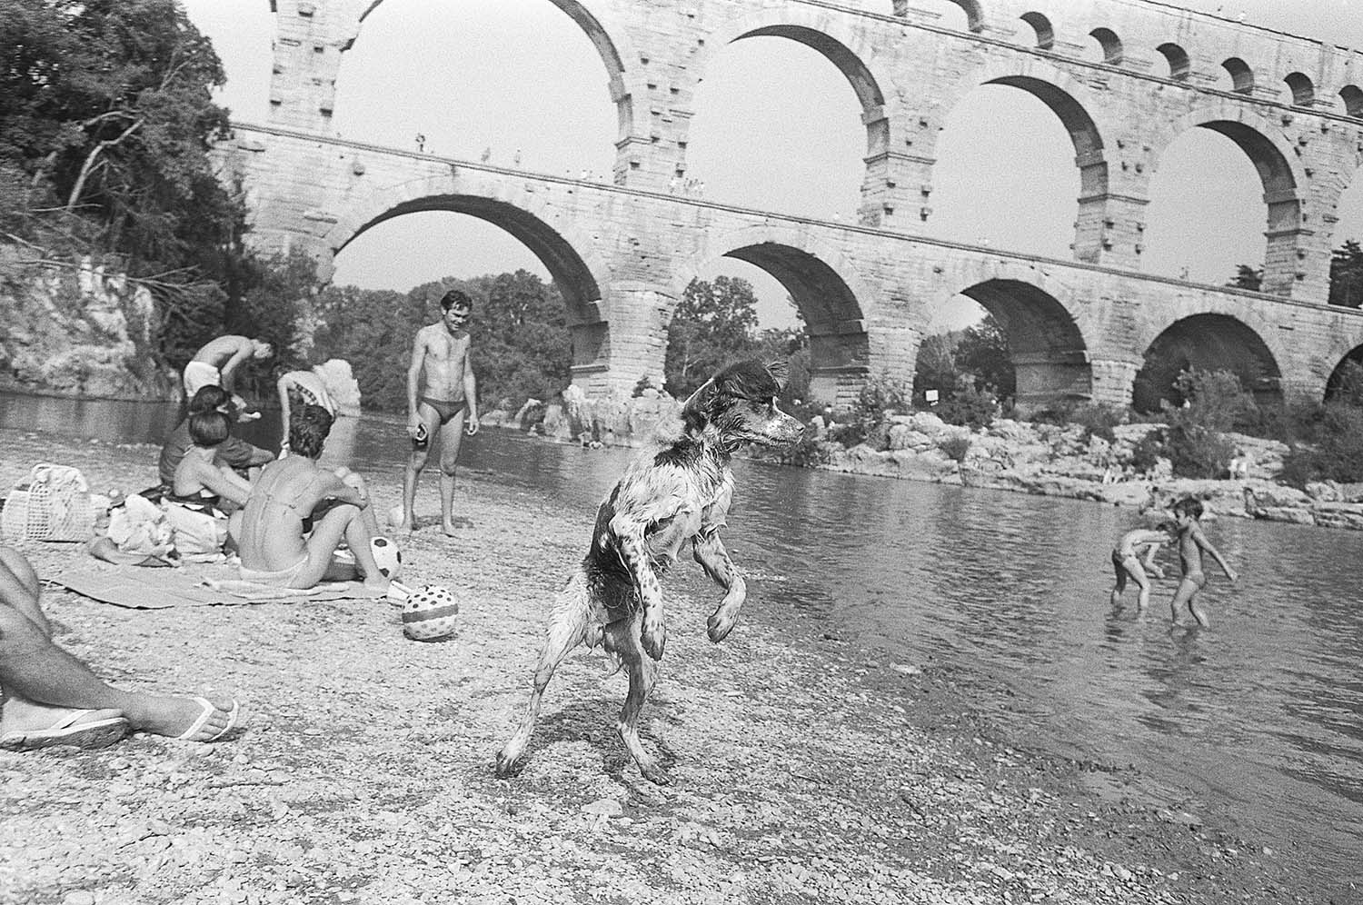
<svg viewBox="0 0 1363 905"><path fill-rule="evenodd" d="M158 442L176 417L0 394L0 427L112 442ZM398 421L341 424L339 457L401 466ZM271 417L245 429L262 444L278 435ZM581 511L586 540L630 455L484 431L461 465ZM1363 532L1209 522L1240 582L1209 563L1212 628L1171 631L1172 581L1156 582L1144 622L1107 601L1131 510L754 462L735 472L726 537L755 577L746 619L799 608L868 657L1003 686L1013 694L995 716L1018 737L1134 765L1159 801L1315 867L1328 886L1363 885Z"/></svg>

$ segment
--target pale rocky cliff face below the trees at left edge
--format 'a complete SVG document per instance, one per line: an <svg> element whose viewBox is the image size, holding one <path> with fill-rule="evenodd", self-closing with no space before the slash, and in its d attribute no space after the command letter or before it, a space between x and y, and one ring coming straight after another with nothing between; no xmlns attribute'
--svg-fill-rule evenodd
<svg viewBox="0 0 1363 905"><path fill-rule="evenodd" d="M0 247L0 388L106 399L174 399L155 364L155 307L144 286L86 260L37 267Z"/></svg>

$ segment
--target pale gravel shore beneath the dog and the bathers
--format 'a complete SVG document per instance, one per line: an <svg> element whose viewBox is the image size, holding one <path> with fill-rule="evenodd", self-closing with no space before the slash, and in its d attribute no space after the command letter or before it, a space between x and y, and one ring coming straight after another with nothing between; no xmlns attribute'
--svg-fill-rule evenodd
<svg viewBox="0 0 1363 905"><path fill-rule="evenodd" d="M147 446L0 431L0 488L37 461L99 491L155 478ZM398 502L398 472L367 477L380 511ZM59 642L104 677L251 716L211 746L0 752L0 902L1349 901L1130 769L1003 737L981 703L998 690L859 651L781 609L778 577L711 645L717 596L688 563L643 718L675 785L639 776L613 729L626 680L581 650L523 773L497 780L592 514L461 474L472 526L447 538L429 474L420 500L403 581L455 592L447 642L406 641L383 602L127 611L49 586ZM42 575L85 556L20 548Z"/></svg>

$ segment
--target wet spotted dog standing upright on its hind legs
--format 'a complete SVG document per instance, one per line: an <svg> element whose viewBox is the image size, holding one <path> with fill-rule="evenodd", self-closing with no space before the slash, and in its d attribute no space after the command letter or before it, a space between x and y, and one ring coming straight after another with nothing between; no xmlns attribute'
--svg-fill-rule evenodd
<svg viewBox="0 0 1363 905"><path fill-rule="evenodd" d="M716 643L728 636L747 597L720 540L733 499L729 459L746 443L786 446L800 439L803 425L777 408L784 380L784 365L740 361L722 368L682 406L680 429L626 469L597 510L582 566L553 604L530 703L497 754L497 776L515 773L553 671L585 642L605 645L630 679L619 722L630 756L652 782L672 781L643 750L638 728L667 645L658 578L691 541L695 562L725 592L707 635Z"/></svg>

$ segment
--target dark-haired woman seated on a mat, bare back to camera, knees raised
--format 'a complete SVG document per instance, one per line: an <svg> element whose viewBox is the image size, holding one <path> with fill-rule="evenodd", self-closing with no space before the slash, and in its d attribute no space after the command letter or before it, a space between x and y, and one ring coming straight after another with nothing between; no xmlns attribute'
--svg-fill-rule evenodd
<svg viewBox="0 0 1363 905"><path fill-rule="evenodd" d="M292 455L260 470L241 518L243 581L277 587L313 587L323 579L356 578L367 587L387 590L371 541L379 534L364 480L348 469L328 472L318 465L331 431L331 416L304 405L289 423ZM333 559L342 538L354 566Z"/></svg>

